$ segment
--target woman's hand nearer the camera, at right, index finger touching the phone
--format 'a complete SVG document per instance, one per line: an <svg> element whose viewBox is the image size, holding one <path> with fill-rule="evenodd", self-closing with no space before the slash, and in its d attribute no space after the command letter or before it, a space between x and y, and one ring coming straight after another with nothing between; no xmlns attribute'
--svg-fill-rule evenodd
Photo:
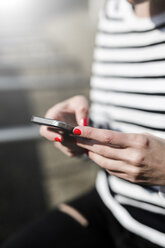
<svg viewBox="0 0 165 248"><path fill-rule="evenodd" d="M73 133L83 138L77 145L110 174L133 183L165 185L164 139L80 126Z"/></svg>

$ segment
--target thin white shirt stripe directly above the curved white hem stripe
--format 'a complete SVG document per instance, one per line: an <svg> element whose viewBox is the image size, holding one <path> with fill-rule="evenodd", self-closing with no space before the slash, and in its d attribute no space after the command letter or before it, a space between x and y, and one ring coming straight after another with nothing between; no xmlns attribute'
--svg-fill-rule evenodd
<svg viewBox="0 0 165 248"><path fill-rule="evenodd" d="M141 202L141 201L136 201L136 200L127 198L127 197L122 196L122 195L116 195L115 199L122 205L130 205L130 206L144 209L144 210L147 210L147 211L150 211L153 213L165 215L165 208L161 208L161 207L151 205L151 204Z"/></svg>

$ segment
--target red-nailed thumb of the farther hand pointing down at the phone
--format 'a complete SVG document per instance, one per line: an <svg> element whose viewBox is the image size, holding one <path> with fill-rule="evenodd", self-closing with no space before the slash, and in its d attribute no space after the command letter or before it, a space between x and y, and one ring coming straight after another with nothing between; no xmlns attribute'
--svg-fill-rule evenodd
<svg viewBox="0 0 165 248"><path fill-rule="evenodd" d="M87 99L85 97L80 98L77 104L77 108L75 110L75 117L78 125L87 126L88 113L89 113L89 107L88 107Z"/></svg>

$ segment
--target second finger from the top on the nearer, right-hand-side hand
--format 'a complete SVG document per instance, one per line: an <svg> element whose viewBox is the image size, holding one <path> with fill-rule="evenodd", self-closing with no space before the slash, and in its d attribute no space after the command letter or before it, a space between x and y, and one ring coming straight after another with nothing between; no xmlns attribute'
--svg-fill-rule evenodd
<svg viewBox="0 0 165 248"><path fill-rule="evenodd" d="M77 145L101 156L126 162L131 160L133 153L131 148L114 148L109 145L103 145L95 140L77 139Z"/></svg>

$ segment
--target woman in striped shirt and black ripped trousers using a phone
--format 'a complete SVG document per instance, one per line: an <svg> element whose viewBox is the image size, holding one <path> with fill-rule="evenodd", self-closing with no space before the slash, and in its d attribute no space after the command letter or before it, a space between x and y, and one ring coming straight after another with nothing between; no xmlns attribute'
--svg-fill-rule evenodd
<svg viewBox="0 0 165 248"><path fill-rule="evenodd" d="M107 1L96 37L89 123L87 100L75 96L46 117L75 123L76 142L41 128L69 157L87 153L102 168L96 188L4 247L165 246L164 31L164 0Z"/></svg>

